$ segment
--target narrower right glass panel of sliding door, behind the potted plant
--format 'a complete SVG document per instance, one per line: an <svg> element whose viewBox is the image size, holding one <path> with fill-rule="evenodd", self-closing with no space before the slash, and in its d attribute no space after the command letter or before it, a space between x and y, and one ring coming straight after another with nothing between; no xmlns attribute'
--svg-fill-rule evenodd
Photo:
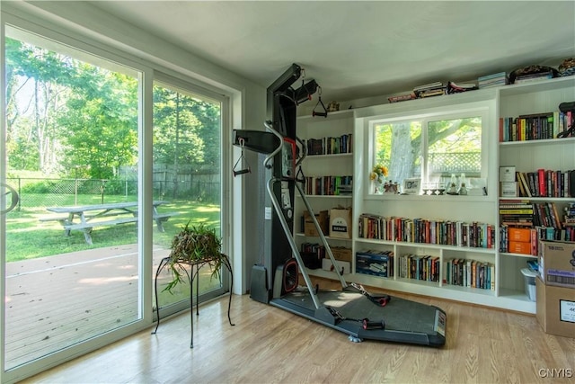
<svg viewBox="0 0 575 384"><path fill-rule="evenodd" d="M177 80L156 81L154 86L154 199L158 208L177 212L164 222L164 233L154 232L154 271L170 255L173 237L186 225L215 228L222 237L222 102L195 92ZM204 266L194 281L200 300L223 293L225 281L212 277ZM226 278L225 274L222 278ZM172 281L166 269L158 276L158 305L165 316L190 305L190 285Z"/></svg>

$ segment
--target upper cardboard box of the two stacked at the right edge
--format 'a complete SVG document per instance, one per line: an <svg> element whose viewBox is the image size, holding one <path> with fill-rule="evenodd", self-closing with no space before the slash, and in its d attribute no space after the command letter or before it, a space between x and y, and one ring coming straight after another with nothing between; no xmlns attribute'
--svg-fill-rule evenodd
<svg viewBox="0 0 575 384"><path fill-rule="evenodd" d="M545 285L575 289L575 243L542 240L539 275Z"/></svg>

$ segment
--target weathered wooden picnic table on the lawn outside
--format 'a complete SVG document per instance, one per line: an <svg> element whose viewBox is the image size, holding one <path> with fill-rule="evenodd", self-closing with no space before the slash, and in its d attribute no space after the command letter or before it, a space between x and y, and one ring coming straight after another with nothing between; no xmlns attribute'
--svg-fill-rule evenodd
<svg viewBox="0 0 575 384"><path fill-rule="evenodd" d="M158 212L157 208L167 202L154 201L153 203L153 216L160 232L164 232L164 221L177 215L176 212ZM48 217L40 219L40 221L58 221L64 228L66 236L70 236L70 231L73 229L81 229L84 231L86 243L92 245L92 229L94 227L137 222L137 204L137 201L126 201L70 207L50 207L47 208L50 212L66 214L66 216ZM102 218L112 219L102 220Z"/></svg>

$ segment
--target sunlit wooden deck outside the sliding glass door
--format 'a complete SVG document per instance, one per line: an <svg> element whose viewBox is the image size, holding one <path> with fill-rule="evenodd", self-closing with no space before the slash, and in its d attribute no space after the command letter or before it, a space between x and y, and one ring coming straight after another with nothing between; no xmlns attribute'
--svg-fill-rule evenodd
<svg viewBox="0 0 575 384"><path fill-rule="evenodd" d="M136 245L7 263L6 368L137 320L137 271Z"/></svg>

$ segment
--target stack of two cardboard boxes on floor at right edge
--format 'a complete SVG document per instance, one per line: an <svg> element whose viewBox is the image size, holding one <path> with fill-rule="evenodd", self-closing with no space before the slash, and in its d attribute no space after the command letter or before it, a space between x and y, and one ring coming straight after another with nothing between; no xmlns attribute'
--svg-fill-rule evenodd
<svg viewBox="0 0 575 384"><path fill-rule="evenodd" d="M548 334L575 336L575 243L542 241L536 279L537 320Z"/></svg>

